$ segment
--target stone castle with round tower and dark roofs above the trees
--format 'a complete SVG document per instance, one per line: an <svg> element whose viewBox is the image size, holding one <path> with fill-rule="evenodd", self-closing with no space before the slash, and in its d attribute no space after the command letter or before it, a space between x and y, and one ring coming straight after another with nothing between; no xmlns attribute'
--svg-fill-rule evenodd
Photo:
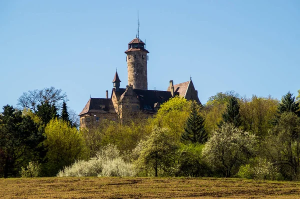
<svg viewBox="0 0 300 199"><path fill-rule="evenodd" d="M170 80L166 91L148 90L147 53L149 51L145 49L145 43L139 39L138 34L128 43L125 53L128 85L126 88L120 88L121 81L115 71L110 98L108 98L107 90L106 98L90 98L78 115L81 127L96 124L103 119L116 120L125 117L123 115L125 109L132 112L142 111L144 114L154 114L160 104L176 95L187 100L195 100L200 104L191 78L189 81L175 85L173 80Z"/></svg>

